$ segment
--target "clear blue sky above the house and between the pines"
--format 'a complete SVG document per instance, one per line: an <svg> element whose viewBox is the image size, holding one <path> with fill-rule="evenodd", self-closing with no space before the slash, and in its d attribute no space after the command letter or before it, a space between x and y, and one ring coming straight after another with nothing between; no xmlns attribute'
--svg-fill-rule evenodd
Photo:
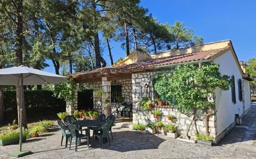
<svg viewBox="0 0 256 159"><path fill-rule="evenodd" d="M242 61L256 58L255 0L141 0L141 5L163 24L180 21L204 38L204 43L231 40ZM111 41L114 61L125 57L120 43ZM103 55L110 64L107 50ZM54 72L51 61L45 71Z"/></svg>

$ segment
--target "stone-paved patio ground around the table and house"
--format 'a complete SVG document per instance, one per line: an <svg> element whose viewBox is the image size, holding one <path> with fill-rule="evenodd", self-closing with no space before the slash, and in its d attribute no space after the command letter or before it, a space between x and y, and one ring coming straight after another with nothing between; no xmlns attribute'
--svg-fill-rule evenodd
<svg viewBox="0 0 256 159"><path fill-rule="evenodd" d="M75 145L68 150L60 147L60 129L38 138L27 140L24 150L32 150L32 155L23 158L256 158L256 105L243 119L244 126L234 127L222 142L214 147L191 144L164 135L149 135L130 131L129 128L113 127L114 141L111 146L99 149L98 141L91 139L91 148ZM18 150L18 145L0 147L0 158L9 157L10 152Z"/></svg>

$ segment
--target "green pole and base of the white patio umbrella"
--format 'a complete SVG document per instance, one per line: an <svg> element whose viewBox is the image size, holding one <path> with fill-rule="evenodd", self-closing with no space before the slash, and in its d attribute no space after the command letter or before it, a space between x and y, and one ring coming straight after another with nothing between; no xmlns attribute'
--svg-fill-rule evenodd
<svg viewBox="0 0 256 159"><path fill-rule="evenodd" d="M10 155L12 157L24 157L26 155L30 155L32 152L30 151L22 151L22 109L23 109L23 105L22 105L22 99L23 99L23 74L21 74L21 108L20 108L20 117L19 117L19 129L20 129L20 132L19 132L19 152L14 152L14 153L11 153Z"/></svg>

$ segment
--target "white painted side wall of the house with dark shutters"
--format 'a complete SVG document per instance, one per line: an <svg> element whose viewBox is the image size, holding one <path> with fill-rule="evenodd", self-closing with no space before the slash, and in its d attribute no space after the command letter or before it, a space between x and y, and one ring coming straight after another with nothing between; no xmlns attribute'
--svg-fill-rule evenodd
<svg viewBox="0 0 256 159"><path fill-rule="evenodd" d="M238 83L239 79L242 79L239 67L235 64L235 59L232 56L231 51L222 54L219 58L215 59L214 62L219 64L219 72L222 75L234 75L235 77L235 97L236 104L232 103L231 88L227 91L222 91L219 88L215 90L216 94L216 117L217 117L217 135L221 134L232 122L234 122L235 114L241 115L243 113L243 103L239 101ZM249 82L244 82L245 85L245 110L250 106L248 100L249 93Z"/></svg>

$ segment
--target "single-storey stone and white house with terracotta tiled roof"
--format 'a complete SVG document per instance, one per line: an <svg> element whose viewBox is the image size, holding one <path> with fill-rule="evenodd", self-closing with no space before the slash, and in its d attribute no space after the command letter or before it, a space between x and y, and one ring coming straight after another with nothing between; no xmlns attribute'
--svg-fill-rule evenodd
<svg viewBox="0 0 256 159"><path fill-rule="evenodd" d="M154 99L155 92L152 83L154 74L161 71L173 71L175 66L191 62L196 64L217 63L221 74L234 77L234 90L232 88L228 91L222 91L218 88L215 90L216 114L209 118L209 133L215 138L214 142L217 143L234 127L235 114L243 116L250 110L251 106L250 80L252 79L240 66L230 40L205 43L159 54L135 51L115 66L77 72L71 76L77 83L91 83L93 85L95 109L102 110L104 101L111 98L112 112L114 112L119 105L116 101L117 97L124 97L127 103L133 105L132 121L146 124L147 121L154 121L155 119L150 111L144 111L139 106L139 102L143 97ZM97 90L103 91L101 97L96 97L95 92ZM72 109L75 107L67 105L67 111L70 112ZM177 118L176 124L180 127L181 134L185 134L191 122L190 117L181 114L170 106L161 106L158 109L163 113L163 122L168 122L167 115L173 114ZM204 133L204 121L198 121L197 125L198 131ZM194 135L195 132L193 125L190 135Z"/></svg>

